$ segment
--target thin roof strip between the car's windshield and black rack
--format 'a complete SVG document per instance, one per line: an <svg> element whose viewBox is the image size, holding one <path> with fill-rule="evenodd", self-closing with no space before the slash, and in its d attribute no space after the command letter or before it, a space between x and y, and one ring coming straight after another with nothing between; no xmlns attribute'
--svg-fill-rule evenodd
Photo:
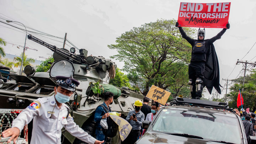
<svg viewBox="0 0 256 144"><path fill-rule="evenodd" d="M193 112L201 112L201 113L211 113L211 114L216 114L216 115L220 115L220 116L237 118L235 113L226 112L226 111L223 111L223 110L215 110L215 109L212 109L212 108L204 108L204 107L165 106L165 107L163 107L163 109L193 111Z"/></svg>

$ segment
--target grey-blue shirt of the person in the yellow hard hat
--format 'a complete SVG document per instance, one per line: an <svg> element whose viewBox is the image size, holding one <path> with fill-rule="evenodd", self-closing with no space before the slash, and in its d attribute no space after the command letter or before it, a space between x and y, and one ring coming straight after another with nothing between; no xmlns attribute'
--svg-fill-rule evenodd
<svg viewBox="0 0 256 144"><path fill-rule="evenodd" d="M135 114L135 116L137 118L137 122L135 122L133 120L129 120L130 117L133 116L133 114ZM133 127L132 129L140 129L144 119L145 119L144 113L142 111L139 111L138 113L136 113L135 110L129 111L129 113L126 117L126 121L128 121L130 123L130 125Z"/></svg>

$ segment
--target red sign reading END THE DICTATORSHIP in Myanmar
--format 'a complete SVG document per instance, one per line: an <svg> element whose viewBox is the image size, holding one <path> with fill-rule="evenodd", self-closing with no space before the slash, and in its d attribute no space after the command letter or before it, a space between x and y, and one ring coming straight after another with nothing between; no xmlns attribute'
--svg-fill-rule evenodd
<svg viewBox="0 0 256 144"><path fill-rule="evenodd" d="M178 23L181 27L226 28L230 2L188 3L181 2Z"/></svg>

